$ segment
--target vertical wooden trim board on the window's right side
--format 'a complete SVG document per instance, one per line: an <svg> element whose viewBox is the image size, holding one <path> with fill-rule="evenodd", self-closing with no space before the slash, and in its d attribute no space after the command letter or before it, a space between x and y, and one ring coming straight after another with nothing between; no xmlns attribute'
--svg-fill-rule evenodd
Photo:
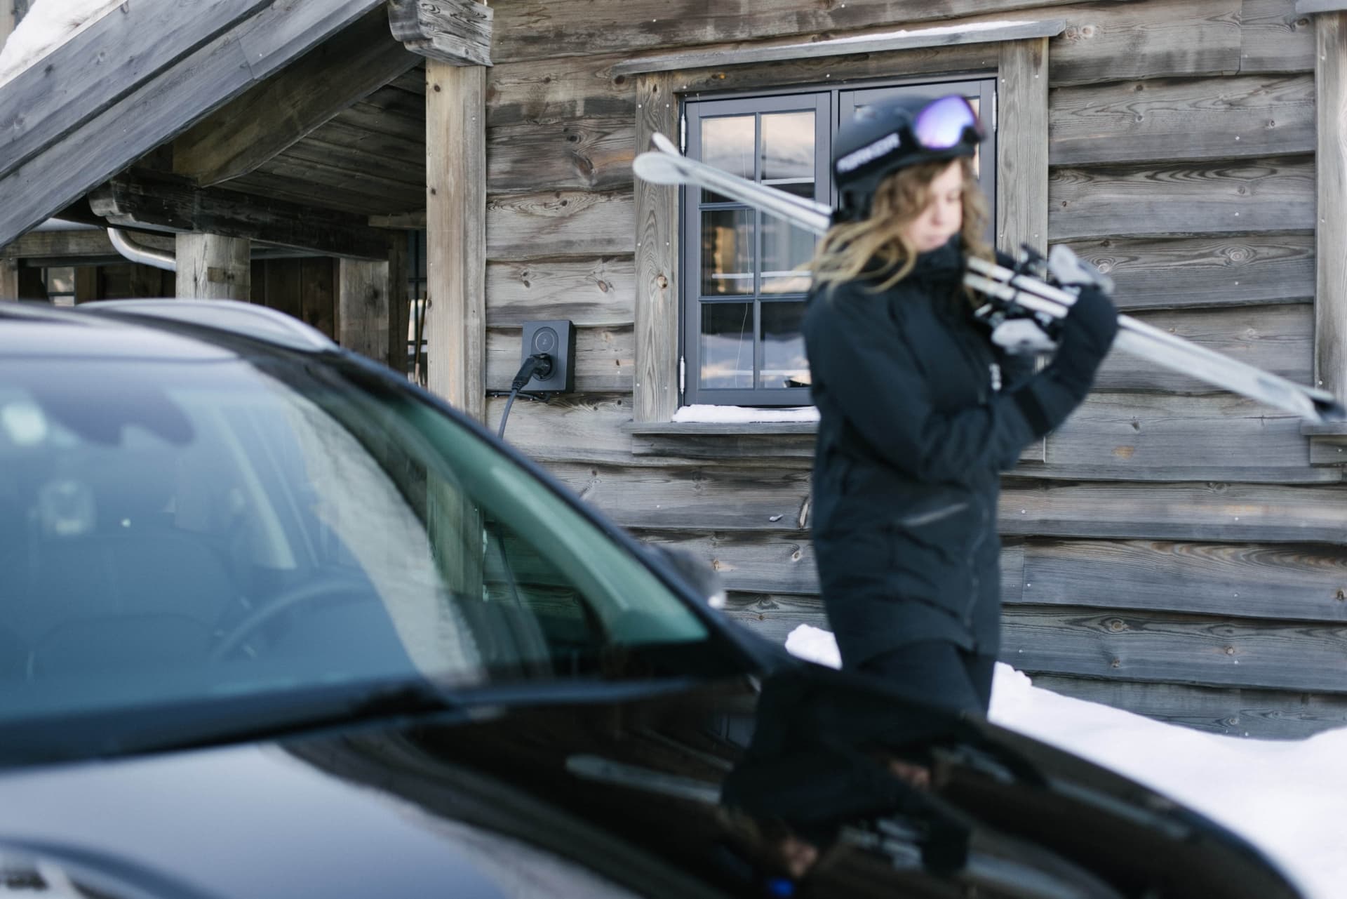
<svg viewBox="0 0 1347 899"><path fill-rule="evenodd" d="M1048 251L1048 39L1001 44L997 245Z"/></svg>

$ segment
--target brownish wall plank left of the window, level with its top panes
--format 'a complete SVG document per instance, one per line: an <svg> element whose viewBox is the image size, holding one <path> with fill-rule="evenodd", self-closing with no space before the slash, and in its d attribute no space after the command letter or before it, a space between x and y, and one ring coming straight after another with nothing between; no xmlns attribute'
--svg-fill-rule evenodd
<svg viewBox="0 0 1347 899"><path fill-rule="evenodd" d="M636 116L500 125L486 133L486 155L492 193L630 189Z"/></svg>

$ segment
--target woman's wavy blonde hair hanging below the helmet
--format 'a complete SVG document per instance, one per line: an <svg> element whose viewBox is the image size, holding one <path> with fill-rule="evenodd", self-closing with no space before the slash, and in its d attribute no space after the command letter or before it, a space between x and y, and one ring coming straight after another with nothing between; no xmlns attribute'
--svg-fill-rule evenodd
<svg viewBox="0 0 1347 899"><path fill-rule="evenodd" d="M878 292L912 274L917 252L902 232L925 210L931 202L931 182L948 167L948 160L925 162L900 168L881 181L869 217L836 224L819 241L808 264L815 290L830 291L866 272L876 280L873 290ZM959 229L963 251L991 260L991 245L983 237L990 218L987 199L978 185L973 159L960 156L959 167L963 170L963 225Z"/></svg>

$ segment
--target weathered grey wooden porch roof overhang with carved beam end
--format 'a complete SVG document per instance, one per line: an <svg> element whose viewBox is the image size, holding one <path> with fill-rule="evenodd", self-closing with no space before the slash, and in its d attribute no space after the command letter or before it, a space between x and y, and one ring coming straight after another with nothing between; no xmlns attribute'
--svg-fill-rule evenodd
<svg viewBox="0 0 1347 899"><path fill-rule="evenodd" d="M424 57L485 59L489 26L453 1L123 4L0 88L0 247L63 216L387 259L372 220L426 209Z"/></svg>

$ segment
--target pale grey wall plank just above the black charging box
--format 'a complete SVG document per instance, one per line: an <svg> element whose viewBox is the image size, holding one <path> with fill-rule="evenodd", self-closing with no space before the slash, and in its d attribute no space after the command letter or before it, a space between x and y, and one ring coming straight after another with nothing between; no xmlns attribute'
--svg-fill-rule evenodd
<svg viewBox="0 0 1347 899"><path fill-rule="evenodd" d="M630 256L539 259L486 266L488 328L568 318L577 328L636 321L636 266Z"/></svg>

